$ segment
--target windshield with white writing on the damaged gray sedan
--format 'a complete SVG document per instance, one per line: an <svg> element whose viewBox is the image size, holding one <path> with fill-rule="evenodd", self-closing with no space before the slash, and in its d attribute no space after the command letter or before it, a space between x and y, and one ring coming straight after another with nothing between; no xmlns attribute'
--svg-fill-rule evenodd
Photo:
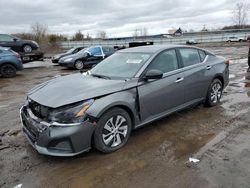
<svg viewBox="0 0 250 188"><path fill-rule="evenodd" d="M97 64L90 74L110 78L132 78L150 56L149 53L117 52Z"/></svg>

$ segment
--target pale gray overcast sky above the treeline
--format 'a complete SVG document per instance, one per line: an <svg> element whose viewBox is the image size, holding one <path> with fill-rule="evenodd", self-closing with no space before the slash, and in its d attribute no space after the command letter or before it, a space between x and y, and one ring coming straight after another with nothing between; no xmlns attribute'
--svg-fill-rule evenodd
<svg viewBox="0 0 250 188"><path fill-rule="evenodd" d="M132 36L137 28L149 34L169 28L200 30L232 24L236 0L0 0L0 33L30 32L35 22L50 33Z"/></svg>

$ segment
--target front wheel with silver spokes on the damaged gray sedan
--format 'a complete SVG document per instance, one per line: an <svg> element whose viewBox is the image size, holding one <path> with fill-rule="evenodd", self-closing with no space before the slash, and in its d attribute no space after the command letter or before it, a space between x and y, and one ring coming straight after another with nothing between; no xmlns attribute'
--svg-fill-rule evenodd
<svg viewBox="0 0 250 188"><path fill-rule="evenodd" d="M125 110L121 108L108 110L97 123L94 132L95 148L103 153L120 149L127 143L131 129L132 121Z"/></svg>

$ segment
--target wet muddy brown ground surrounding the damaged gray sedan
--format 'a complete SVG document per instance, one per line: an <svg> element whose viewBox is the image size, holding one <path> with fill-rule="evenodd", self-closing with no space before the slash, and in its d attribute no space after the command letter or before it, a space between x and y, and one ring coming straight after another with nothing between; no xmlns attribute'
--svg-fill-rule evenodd
<svg viewBox="0 0 250 188"><path fill-rule="evenodd" d="M126 146L111 154L92 149L71 158L43 156L21 132L25 93L77 71L47 61L27 64L15 78L0 78L0 187L250 187L247 47L208 49L232 59L220 105L199 105L135 130ZM200 162L190 163L189 157Z"/></svg>

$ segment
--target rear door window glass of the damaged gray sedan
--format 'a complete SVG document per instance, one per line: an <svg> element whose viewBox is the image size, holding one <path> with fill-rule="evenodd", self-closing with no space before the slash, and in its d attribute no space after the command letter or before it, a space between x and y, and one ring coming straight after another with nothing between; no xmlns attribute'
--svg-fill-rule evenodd
<svg viewBox="0 0 250 188"><path fill-rule="evenodd" d="M180 55L184 67L195 65L201 62L200 54L196 49L182 48L180 49Z"/></svg>

